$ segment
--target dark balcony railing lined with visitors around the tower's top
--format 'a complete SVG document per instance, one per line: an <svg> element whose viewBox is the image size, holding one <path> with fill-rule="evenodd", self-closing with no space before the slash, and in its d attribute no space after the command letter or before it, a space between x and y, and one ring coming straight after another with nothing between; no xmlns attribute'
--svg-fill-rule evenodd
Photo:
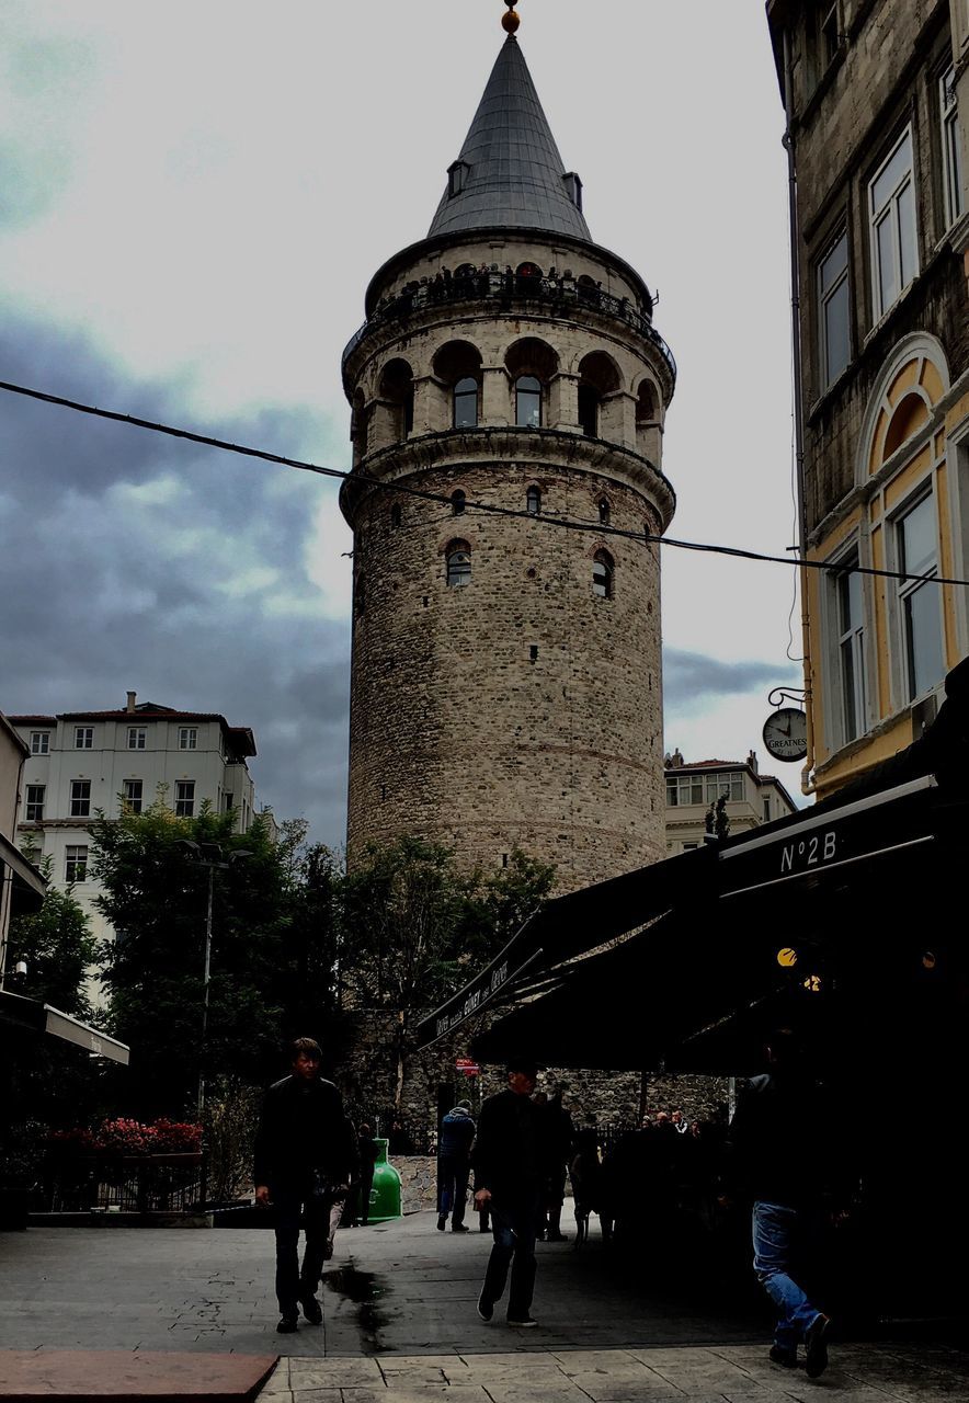
<svg viewBox="0 0 969 1403"><path fill-rule="evenodd" d="M666 361L673 384L676 384L673 352L653 327L652 318L639 311L630 297L614 297L613 293L597 285L578 282L565 275L546 278L516 274L510 269L499 272L495 268L482 268L463 276L440 272L435 278L422 278L419 282L407 283L393 297L383 297L374 307L373 316L346 342L342 356L344 377L349 356L379 327L391 321L407 321L431 307L481 300L496 302L499 310L502 306L510 307L512 303L540 303L560 316L572 316L576 307L585 307L589 311L599 311L623 321L656 347Z"/></svg>

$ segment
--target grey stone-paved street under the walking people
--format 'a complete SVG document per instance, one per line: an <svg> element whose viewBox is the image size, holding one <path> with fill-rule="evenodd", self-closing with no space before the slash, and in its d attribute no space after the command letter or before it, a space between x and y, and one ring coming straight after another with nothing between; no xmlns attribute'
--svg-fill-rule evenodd
<svg viewBox="0 0 969 1403"><path fill-rule="evenodd" d="M778 1369L766 1360L768 1313L753 1285L687 1294L617 1277L595 1228L581 1251L538 1244L537 1330L516 1334L499 1315L484 1324L474 1302L489 1240L439 1233L433 1214L344 1230L321 1292L324 1324L280 1337L269 1232L31 1228L0 1239L0 1347L35 1361L98 1351L105 1379L108 1361L123 1357L107 1351L202 1365L285 1350L259 1396L297 1403L445 1393L456 1403L781 1403L818 1389L846 1403L969 1397L969 1354L947 1343L836 1341L816 1383ZM14 1390L0 1382L4 1392ZM172 1383L170 1396L184 1392Z"/></svg>

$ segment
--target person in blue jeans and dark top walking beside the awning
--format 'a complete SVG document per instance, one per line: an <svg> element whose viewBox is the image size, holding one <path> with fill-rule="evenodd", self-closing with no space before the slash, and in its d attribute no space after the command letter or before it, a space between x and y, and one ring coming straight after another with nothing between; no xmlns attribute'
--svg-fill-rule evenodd
<svg viewBox="0 0 969 1403"><path fill-rule="evenodd" d="M728 1177L753 1198L753 1267L777 1310L770 1358L797 1368L804 1343L805 1374L816 1379L827 1368L830 1322L792 1273L832 1207L844 1148L833 1143L832 1108L795 1034L777 1030L764 1051L770 1070L749 1082L731 1122Z"/></svg>

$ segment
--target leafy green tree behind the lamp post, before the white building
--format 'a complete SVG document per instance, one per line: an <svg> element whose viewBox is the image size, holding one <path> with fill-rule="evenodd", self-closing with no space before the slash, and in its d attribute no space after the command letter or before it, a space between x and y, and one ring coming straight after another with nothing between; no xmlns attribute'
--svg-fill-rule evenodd
<svg viewBox="0 0 969 1403"><path fill-rule="evenodd" d="M98 906L115 932L101 978L112 1031L132 1047L128 1094L139 1114L189 1111L201 1072L206 1083L229 1072L264 1080L278 1066L296 1002L307 1016L313 1010L313 1030L323 1035L327 1000L317 995L321 982L332 986L332 975L321 981L325 958L316 958L306 930L304 828L283 825L273 843L261 819L244 835L233 822L205 804L196 818L178 818L160 797L143 814L98 815L93 829ZM215 845L226 866L206 866L187 843Z"/></svg>

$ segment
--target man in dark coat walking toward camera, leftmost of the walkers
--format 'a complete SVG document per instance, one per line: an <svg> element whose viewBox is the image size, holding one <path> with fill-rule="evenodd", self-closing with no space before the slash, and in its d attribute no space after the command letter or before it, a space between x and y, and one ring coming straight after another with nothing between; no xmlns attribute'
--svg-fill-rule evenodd
<svg viewBox="0 0 969 1403"><path fill-rule="evenodd" d="M334 1230L356 1174L356 1136L332 1082L320 1076L323 1052L313 1038L292 1044L290 1076L266 1092L255 1138L255 1200L276 1211L276 1298L279 1334L297 1324L297 1303L310 1324L323 1309L317 1285L332 1257ZM300 1215L306 1230L299 1264Z"/></svg>

